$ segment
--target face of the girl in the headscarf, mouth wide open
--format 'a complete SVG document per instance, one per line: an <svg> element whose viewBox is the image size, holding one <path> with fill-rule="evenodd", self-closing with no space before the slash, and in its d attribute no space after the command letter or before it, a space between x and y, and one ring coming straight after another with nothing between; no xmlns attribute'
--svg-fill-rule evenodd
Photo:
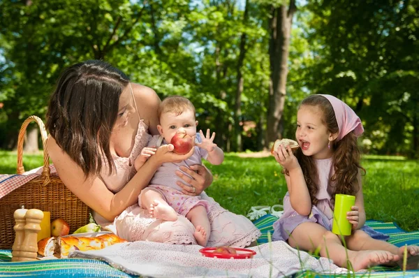
<svg viewBox="0 0 419 278"><path fill-rule="evenodd" d="M317 106L302 105L297 112L297 131L295 138L305 156L314 159L332 157L329 141L335 139L323 122L323 111Z"/></svg>

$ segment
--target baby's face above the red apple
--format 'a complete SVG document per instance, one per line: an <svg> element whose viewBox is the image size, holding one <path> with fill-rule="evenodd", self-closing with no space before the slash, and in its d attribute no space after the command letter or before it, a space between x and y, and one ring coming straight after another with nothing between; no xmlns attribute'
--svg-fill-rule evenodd
<svg viewBox="0 0 419 278"><path fill-rule="evenodd" d="M170 143L172 137L176 133L186 133L189 136L196 135L196 126L198 121L195 120L195 114L192 110L186 110L180 115L166 112L160 117L160 125L158 126L161 136L166 142Z"/></svg>

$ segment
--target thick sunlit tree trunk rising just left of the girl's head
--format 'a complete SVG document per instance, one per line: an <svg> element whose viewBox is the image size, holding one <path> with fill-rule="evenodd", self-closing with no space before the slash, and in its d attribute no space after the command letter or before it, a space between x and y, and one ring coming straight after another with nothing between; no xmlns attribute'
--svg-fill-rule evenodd
<svg viewBox="0 0 419 278"><path fill-rule="evenodd" d="M286 96L286 78L288 75L288 54L293 15L297 8L295 0L290 1L287 10L285 5L271 7L270 20L270 92L267 108L267 127L265 147L281 138L280 123L284 112Z"/></svg>

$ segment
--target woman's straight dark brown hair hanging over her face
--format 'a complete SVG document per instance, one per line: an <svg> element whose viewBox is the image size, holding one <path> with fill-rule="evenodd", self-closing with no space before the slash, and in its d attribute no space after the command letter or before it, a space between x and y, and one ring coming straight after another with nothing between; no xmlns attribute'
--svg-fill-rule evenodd
<svg viewBox="0 0 419 278"><path fill-rule="evenodd" d="M101 173L103 156L110 173L115 167L110 133L119 96L128 83L122 71L98 60L67 68L57 81L48 105L47 130L86 177Z"/></svg>

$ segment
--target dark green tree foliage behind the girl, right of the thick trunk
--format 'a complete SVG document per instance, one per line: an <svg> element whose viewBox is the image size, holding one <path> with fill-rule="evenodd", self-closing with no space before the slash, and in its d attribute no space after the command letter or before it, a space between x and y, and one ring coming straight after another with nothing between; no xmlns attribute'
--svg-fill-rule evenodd
<svg viewBox="0 0 419 278"><path fill-rule="evenodd" d="M311 92L358 112L372 153L419 155L419 1L311 1ZM316 31L311 31L316 30ZM376 136L377 133L379 136Z"/></svg>

